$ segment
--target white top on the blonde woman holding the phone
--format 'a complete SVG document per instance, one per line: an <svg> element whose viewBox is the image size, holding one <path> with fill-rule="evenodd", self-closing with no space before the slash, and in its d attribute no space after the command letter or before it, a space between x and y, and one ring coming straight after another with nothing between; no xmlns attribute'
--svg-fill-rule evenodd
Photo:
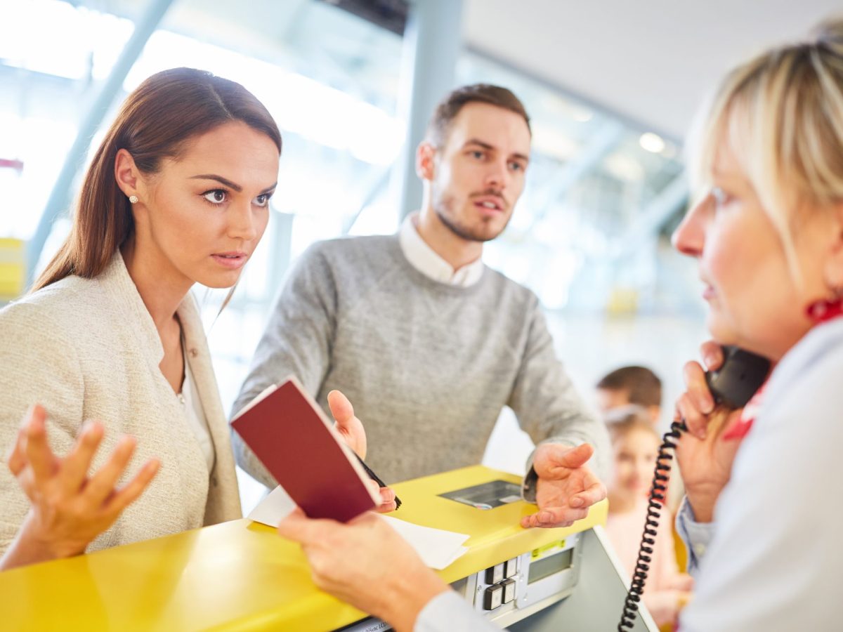
<svg viewBox="0 0 843 632"><path fill-rule="evenodd" d="M765 389L706 532L682 632L841 629L843 319L819 325ZM707 544L707 546L706 546Z"/></svg>

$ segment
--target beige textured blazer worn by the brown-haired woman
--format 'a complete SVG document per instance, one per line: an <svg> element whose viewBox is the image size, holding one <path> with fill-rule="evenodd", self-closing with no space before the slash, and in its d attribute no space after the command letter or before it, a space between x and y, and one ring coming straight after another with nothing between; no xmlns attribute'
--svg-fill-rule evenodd
<svg viewBox="0 0 843 632"><path fill-rule="evenodd" d="M161 460L147 490L89 551L240 517L228 420L191 295L178 314L216 451L210 473L158 367L164 348L120 253L94 279L67 277L0 311L0 554L30 506L5 460L35 402L46 408L58 455L70 450L84 420L99 420L105 439L94 467L125 434L137 438L131 474L148 458Z"/></svg>

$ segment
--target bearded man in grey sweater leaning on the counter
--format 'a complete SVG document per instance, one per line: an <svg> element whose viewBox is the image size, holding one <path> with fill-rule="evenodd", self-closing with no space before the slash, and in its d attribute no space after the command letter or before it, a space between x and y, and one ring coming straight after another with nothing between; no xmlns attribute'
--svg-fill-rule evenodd
<svg viewBox="0 0 843 632"><path fill-rule="evenodd" d="M604 475L604 427L556 358L538 298L481 261L524 188L530 139L506 88L448 94L416 155L421 212L397 235L333 239L298 259L234 412L291 374L322 405L341 390L366 427L369 464L398 481L480 463L509 406L539 444L524 492L540 511L524 526L584 517L605 495L586 465L593 446ZM275 485L236 433L234 451Z"/></svg>

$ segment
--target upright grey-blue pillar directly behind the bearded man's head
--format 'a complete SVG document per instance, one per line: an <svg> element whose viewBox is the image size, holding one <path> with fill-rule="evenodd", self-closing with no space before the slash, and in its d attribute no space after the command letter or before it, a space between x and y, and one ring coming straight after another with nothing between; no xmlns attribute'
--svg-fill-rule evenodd
<svg viewBox="0 0 843 632"><path fill-rule="evenodd" d="M413 0L404 29L398 115L407 123L404 147L392 175L400 217L421 205L416 147L433 109L454 88L462 46L463 0Z"/></svg>

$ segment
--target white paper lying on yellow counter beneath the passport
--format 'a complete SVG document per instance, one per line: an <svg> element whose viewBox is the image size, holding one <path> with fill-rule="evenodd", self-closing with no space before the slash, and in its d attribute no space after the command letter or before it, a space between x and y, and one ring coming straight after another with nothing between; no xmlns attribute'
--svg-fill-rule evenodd
<svg viewBox="0 0 843 632"><path fill-rule="evenodd" d="M270 527L277 527L278 523L295 507L296 503L279 485L258 503L248 518ZM465 540L469 538L466 533L421 527L421 525L391 516L381 516L381 518L416 550L421 560L430 568L442 570L453 564L468 550L463 546Z"/></svg>

